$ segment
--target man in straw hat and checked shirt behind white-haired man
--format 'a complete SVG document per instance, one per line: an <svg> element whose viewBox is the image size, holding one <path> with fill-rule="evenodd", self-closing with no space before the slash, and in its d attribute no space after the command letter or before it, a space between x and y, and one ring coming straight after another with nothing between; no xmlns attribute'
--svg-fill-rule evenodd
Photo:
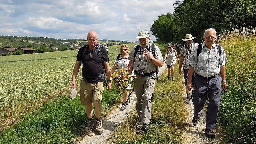
<svg viewBox="0 0 256 144"><path fill-rule="evenodd" d="M195 47L198 46L198 43L193 42L193 39L195 37L192 37L191 34L186 34L185 38L182 39L183 41L186 41L184 46L181 47L180 51L180 64L179 64L179 74L182 74L181 67L183 67L183 78L184 78L184 84L187 86L188 83L188 69L189 69L189 64L187 62L188 56L190 53L195 49ZM195 79L196 73L194 72L192 75L192 87L194 87L194 79ZM190 102L190 90L187 89L186 87L186 94L187 94L187 99L185 101L186 104L189 104ZM193 94L193 92L192 92ZM193 95L192 95L193 96Z"/></svg>

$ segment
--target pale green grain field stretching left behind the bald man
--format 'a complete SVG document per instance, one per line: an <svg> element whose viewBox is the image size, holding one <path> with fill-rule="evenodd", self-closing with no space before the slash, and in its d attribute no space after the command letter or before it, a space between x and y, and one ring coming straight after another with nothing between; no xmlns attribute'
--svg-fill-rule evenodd
<svg viewBox="0 0 256 144"><path fill-rule="evenodd" d="M111 66L119 54L120 46L109 47ZM128 46L132 48L134 43ZM78 50L1 57L0 132L15 124L24 113L39 109L42 104L70 92L69 85L77 55L75 51ZM10 60L16 62L6 62ZM76 79L78 92L81 79L80 70ZM114 100L109 101L104 104L113 104Z"/></svg>

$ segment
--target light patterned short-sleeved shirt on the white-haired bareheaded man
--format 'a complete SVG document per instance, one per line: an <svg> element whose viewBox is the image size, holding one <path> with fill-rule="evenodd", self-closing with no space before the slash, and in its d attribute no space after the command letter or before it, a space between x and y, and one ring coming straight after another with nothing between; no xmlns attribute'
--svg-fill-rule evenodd
<svg viewBox="0 0 256 144"><path fill-rule="evenodd" d="M215 43L209 51L204 42L202 45L202 51L198 58L197 48L198 47L196 47L189 55L187 62L195 68L195 72L197 74L203 77L210 77L218 74L220 72L220 67L225 65L228 61L223 47L220 47L221 54L219 55L218 48Z"/></svg>

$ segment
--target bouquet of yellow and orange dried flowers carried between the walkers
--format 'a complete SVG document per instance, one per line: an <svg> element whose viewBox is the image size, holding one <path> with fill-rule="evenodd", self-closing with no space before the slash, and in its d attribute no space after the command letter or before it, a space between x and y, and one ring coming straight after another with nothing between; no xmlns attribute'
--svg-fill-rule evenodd
<svg viewBox="0 0 256 144"><path fill-rule="evenodd" d="M122 77L128 76L128 71L123 67L118 72L114 72L112 75L112 83L120 93L127 92L126 87L132 83L131 77L123 80Z"/></svg>

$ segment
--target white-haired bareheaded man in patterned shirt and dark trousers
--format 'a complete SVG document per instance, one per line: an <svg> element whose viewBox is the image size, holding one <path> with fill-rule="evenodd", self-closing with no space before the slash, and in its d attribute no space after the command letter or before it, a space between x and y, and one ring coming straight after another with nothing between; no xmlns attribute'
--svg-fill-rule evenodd
<svg viewBox="0 0 256 144"><path fill-rule="evenodd" d="M194 117L192 123L195 126L198 124L208 94L209 103L205 116L205 134L209 138L215 137L213 129L217 124L221 90L225 91L227 89L225 67L227 57L223 47L214 43L216 34L215 29L209 28L205 30L204 42L192 51L187 60L190 64L188 70L188 90L191 90L192 75L194 71L196 72L195 88L193 90Z"/></svg>

